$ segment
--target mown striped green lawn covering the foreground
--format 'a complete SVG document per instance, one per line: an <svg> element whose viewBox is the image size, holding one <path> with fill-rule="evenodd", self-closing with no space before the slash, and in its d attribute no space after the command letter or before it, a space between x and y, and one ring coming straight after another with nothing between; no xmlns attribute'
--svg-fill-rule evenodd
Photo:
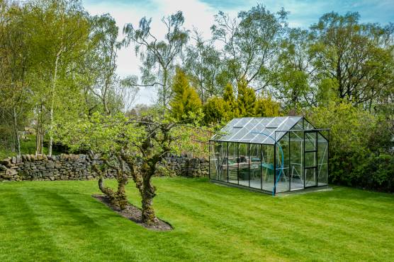
<svg viewBox="0 0 394 262"><path fill-rule="evenodd" d="M113 181L111 181L113 184ZM91 197L96 181L0 183L0 261L393 261L394 196L334 187L272 197L157 178L152 232ZM133 184L130 201L140 206Z"/></svg>

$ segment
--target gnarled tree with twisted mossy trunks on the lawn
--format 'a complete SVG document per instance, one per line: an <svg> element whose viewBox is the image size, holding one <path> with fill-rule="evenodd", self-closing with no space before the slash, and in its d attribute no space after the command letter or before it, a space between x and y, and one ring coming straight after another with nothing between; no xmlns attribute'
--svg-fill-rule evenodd
<svg viewBox="0 0 394 262"><path fill-rule="evenodd" d="M99 189L108 196L113 206L125 208L128 198L125 185L131 177L142 199L142 222L154 225L157 218L153 209L156 188L152 177L159 162L169 153L191 148L190 133L179 127L183 124L169 117L140 117L128 119L123 114L103 116L94 113L77 123L58 126L57 137L72 150L89 150L91 157L100 155L102 165L94 165L99 174ZM179 143L183 140L183 143ZM174 143L178 142L178 143ZM104 185L107 172L116 172L117 189Z"/></svg>

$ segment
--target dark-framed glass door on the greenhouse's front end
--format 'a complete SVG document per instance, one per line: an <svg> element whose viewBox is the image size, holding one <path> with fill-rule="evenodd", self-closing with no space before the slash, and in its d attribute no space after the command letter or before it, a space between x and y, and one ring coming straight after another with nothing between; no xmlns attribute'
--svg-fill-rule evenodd
<svg viewBox="0 0 394 262"><path fill-rule="evenodd" d="M317 186L317 131L304 131L304 187Z"/></svg>

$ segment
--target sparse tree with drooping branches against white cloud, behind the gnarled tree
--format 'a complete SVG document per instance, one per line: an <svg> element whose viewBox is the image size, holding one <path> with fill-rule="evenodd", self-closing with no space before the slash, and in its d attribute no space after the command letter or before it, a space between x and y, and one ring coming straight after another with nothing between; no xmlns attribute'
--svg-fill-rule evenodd
<svg viewBox="0 0 394 262"><path fill-rule="evenodd" d="M135 53L142 60L142 84L138 86L158 86L159 102L167 109L171 97L169 81L174 74L174 64L188 42L188 31L184 25L181 11L162 18L166 28L163 40L152 34L150 24L152 18L140 20L138 28L128 23L123 28L125 38L123 44L135 44Z"/></svg>

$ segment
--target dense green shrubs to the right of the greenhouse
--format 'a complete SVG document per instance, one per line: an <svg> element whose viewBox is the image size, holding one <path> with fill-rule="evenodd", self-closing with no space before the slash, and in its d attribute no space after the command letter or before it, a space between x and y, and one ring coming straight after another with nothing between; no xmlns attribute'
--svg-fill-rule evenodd
<svg viewBox="0 0 394 262"><path fill-rule="evenodd" d="M331 183L394 191L393 134L386 121L347 102L315 107L308 118L315 126L331 129Z"/></svg>

